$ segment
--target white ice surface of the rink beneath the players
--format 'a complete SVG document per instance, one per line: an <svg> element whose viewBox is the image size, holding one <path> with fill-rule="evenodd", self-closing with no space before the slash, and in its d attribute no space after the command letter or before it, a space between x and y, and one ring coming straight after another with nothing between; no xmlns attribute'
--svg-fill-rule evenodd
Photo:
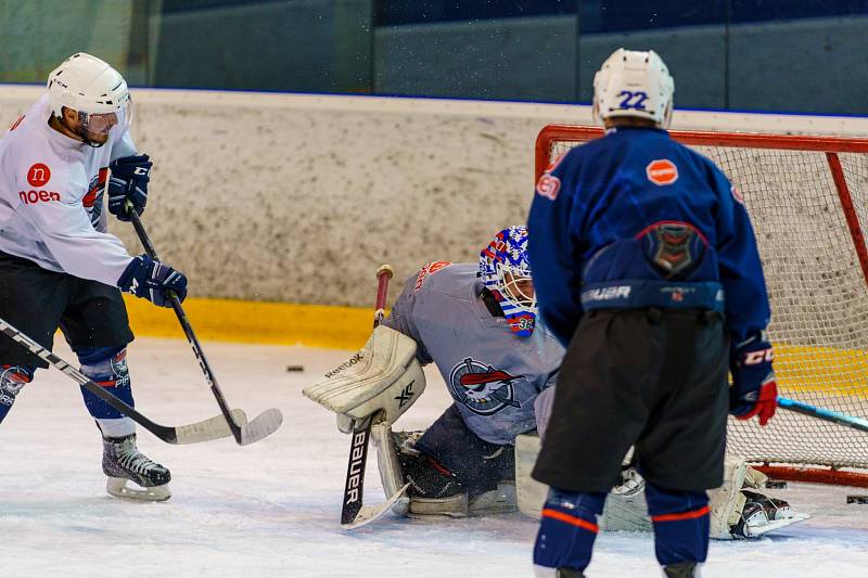
<svg viewBox="0 0 868 578"><path fill-rule="evenodd" d="M532 576L536 524L519 514L419 523L387 517L354 532L339 525L349 439L301 389L346 356L301 347L205 344L228 401L283 426L248 447L225 439L169 446L140 429L139 446L167 465L171 500L108 498L98 431L78 387L40 371L0 425L0 578L9 577L483 577ZM73 361L68 349L58 352ZM138 408L169 425L217 413L183 342L130 347ZM288 373L303 364L303 373ZM401 428L431 423L449 403L439 376ZM380 501L369 459L366 500ZM868 505L859 490L791 485L777 494L814 518L755 542L713 542L709 578L866 577ZM865 490L868 493L868 490ZM660 576L650 535L602 534L589 576Z"/></svg>

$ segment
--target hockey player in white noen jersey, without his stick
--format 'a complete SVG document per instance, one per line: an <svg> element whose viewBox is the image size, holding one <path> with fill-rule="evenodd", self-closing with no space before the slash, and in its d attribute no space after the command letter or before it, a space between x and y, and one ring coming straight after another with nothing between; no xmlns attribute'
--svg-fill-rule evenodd
<svg viewBox="0 0 868 578"><path fill-rule="evenodd" d="M152 163L136 150L131 117L124 78L77 53L49 75L46 94L0 141L0 317L49 349L60 327L82 373L129 406L126 348L133 336L120 292L163 307L170 307L169 292L187 295L183 274L129 255L106 233L106 191L108 210L122 220L148 201ZM0 422L46 367L0 339ZM138 451L135 423L81 391L103 436L108 492L168 499L169 471Z"/></svg>

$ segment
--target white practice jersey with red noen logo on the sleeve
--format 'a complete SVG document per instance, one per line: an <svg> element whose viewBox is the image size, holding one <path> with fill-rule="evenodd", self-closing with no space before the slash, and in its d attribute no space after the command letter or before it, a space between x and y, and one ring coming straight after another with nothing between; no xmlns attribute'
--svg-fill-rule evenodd
<svg viewBox="0 0 868 578"><path fill-rule="evenodd" d="M132 257L105 232L103 190L108 163L136 146L125 131L94 149L52 129L50 116L44 95L0 140L0 252L116 285Z"/></svg>

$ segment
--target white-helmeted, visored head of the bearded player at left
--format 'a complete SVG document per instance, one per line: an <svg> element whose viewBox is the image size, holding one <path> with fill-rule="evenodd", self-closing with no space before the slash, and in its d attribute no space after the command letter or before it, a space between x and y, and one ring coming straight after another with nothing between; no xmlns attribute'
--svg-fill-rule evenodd
<svg viewBox="0 0 868 578"><path fill-rule="evenodd" d="M110 130L126 128L132 119L124 77L108 63L85 52L73 54L49 74L48 98L51 112L59 118L64 106L78 112L76 133L91 146L102 145Z"/></svg>

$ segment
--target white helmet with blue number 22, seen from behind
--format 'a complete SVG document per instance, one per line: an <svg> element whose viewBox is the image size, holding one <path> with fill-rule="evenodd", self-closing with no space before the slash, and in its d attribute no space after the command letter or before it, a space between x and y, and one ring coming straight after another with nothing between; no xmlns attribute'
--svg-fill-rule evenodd
<svg viewBox="0 0 868 578"><path fill-rule="evenodd" d="M666 128L672 121L675 81L663 59L649 50L617 49L593 75L593 117L648 118Z"/></svg>

